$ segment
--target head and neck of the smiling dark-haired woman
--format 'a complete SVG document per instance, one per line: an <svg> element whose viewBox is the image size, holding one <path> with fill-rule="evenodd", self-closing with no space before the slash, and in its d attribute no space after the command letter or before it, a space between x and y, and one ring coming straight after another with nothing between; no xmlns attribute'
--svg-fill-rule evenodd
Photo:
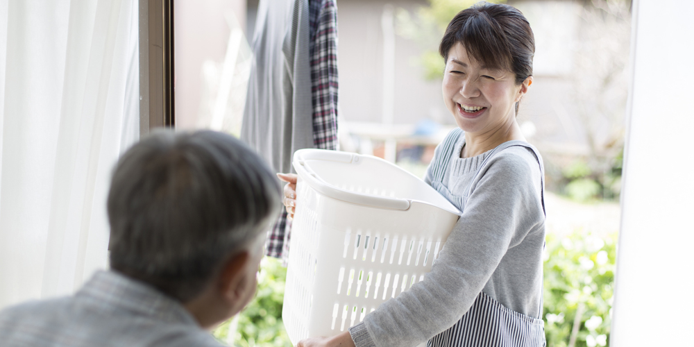
<svg viewBox="0 0 694 347"><path fill-rule="evenodd" d="M462 11L448 24L439 45L446 60L443 101L459 128L484 138L524 139L515 115L532 84L534 52L530 24L518 10L487 6L484 12ZM498 142L477 146L471 139L463 158Z"/></svg>

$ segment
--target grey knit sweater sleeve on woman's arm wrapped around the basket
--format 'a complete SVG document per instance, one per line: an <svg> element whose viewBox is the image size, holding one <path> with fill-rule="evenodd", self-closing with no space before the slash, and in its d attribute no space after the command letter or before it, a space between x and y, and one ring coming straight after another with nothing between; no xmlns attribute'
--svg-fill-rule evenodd
<svg viewBox="0 0 694 347"><path fill-rule="evenodd" d="M469 310L509 247L541 223L529 165L503 152L490 160L432 271L350 329L357 347L416 346Z"/></svg>

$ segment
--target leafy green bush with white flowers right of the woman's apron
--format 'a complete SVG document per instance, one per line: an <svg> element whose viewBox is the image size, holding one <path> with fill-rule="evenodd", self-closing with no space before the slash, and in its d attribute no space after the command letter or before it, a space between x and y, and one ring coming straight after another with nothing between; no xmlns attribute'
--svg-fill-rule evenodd
<svg viewBox="0 0 694 347"><path fill-rule="evenodd" d="M616 234L547 235L545 336L548 347L607 346L611 323Z"/></svg>

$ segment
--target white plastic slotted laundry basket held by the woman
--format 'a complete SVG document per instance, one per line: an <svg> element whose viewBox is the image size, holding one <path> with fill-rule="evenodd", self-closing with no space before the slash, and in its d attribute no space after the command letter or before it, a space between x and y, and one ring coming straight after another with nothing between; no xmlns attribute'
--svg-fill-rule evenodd
<svg viewBox="0 0 694 347"><path fill-rule="evenodd" d="M459 211L371 155L294 153L297 203L282 320L292 344L364 319L431 270Z"/></svg>

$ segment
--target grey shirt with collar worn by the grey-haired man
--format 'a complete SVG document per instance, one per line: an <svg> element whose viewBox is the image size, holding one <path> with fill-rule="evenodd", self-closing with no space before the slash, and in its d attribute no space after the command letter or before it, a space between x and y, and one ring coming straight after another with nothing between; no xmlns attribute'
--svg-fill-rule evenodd
<svg viewBox="0 0 694 347"><path fill-rule="evenodd" d="M100 271L74 296L0 312L1 347L214 346L183 305L114 271Z"/></svg>

